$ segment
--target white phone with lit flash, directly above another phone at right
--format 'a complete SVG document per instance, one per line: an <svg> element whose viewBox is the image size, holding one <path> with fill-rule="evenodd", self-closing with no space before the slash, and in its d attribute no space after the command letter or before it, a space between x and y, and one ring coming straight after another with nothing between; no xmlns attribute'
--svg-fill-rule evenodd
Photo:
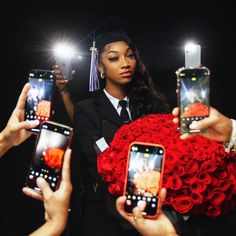
<svg viewBox="0 0 236 236"><path fill-rule="evenodd" d="M184 48L185 67L199 67L201 65L201 46L188 43Z"/></svg>

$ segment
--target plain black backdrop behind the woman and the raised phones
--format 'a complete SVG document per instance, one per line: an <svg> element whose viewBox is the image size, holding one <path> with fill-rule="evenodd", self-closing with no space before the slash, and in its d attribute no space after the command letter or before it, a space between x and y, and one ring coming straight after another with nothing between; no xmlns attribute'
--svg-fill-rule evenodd
<svg viewBox="0 0 236 236"><path fill-rule="evenodd" d="M76 44L83 56L76 62L76 77L69 84L73 100L89 96L89 35L117 26L126 30L141 50L155 84L171 106L176 105L175 71L184 66L184 44L188 40L200 44L202 64L211 70L211 105L235 118L236 4L127 4L40 1L8 2L1 7L6 16L1 19L0 128L14 109L28 70L51 68L50 50L58 39ZM70 124L57 93L54 105L54 120ZM42 204L21 193L34 142L32 136L1 159L1 235L26 235L43 223Z"/></svg>

